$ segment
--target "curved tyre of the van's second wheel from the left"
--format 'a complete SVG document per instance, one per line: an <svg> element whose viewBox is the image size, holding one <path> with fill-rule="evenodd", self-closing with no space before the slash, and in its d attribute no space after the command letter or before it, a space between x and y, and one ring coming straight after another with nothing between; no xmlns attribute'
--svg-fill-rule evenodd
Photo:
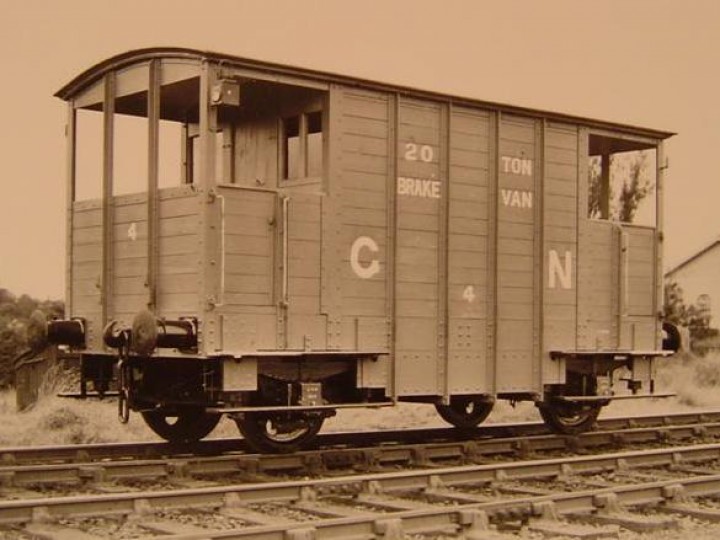
<svg viewBox="0 0 720 540"><path fill-rule="evenodd" d="M240 433L248 445L257 452L286 454L305 448L318 434L324 418L322 416L306 416L305 426L289 433L273 433L272 416L267 413L245 413L235 420Z"/></svg>

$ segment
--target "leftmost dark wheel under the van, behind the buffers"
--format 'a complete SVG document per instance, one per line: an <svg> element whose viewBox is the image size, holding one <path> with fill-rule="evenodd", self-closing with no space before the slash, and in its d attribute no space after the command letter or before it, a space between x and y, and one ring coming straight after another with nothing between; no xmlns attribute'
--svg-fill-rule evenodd
<svg viewBox="0 0 720 540"><path fill-rule="evenodd" d="M144 411L143 420L155 433L172 443L196 442L210 434L221 415L208 414L201 408L176 412Z"/></svg>

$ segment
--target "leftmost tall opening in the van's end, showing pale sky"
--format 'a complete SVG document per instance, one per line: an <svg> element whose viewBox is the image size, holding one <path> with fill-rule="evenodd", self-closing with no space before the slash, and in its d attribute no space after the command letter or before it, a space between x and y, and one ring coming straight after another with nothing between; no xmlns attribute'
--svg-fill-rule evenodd
<svg viewBox="0 0 720 540"><path fill-rule="evenodd" d="M75 111L75 200L102 197L103 113Z"/></svg>

